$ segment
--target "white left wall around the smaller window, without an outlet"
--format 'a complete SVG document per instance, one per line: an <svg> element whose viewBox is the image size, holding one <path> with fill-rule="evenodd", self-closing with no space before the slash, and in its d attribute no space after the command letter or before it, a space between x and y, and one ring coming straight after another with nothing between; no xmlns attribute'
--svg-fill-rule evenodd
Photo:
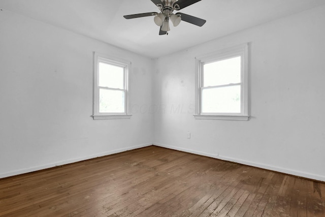
<svg viewBox="0 0 325 217"><path fill-rule="evenodd" d="M151 59L6 10L0 31L0 178L152 144ZM132 61L131 119L90 117L93 51Z"/></svg>

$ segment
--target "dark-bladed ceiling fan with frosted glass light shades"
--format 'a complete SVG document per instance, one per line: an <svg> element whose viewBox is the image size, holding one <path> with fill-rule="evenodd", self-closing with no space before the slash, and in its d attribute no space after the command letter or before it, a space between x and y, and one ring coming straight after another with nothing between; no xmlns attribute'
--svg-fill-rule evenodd
<svg viewBox="0 0 325 217"><path fill-rule="evenodd" d="M185 22L192 23L197 26L203 26L206 20L193 17L188 14L184 13L176 13L174 14L173 11L181 10L187 6L193 5L194 3L200 2L201 0L151 0L160 10L160 13L157 12L149 12L149 13L142 13L142 14L131 14L123 16L125 19L133 19L139 17L149 17L155 16L154 22L156 25L160 26L159 35L168 35L168 31L170 30L169 27L169 20L172 21L174 26L177 26L181 20Z"/></svg>

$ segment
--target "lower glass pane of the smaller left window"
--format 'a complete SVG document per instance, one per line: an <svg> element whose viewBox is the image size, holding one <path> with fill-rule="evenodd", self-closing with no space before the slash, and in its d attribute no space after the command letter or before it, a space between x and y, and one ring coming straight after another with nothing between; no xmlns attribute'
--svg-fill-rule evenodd
<svg viewBox="0 0 325 217"><path fill-rule="evenodd" d="M124 113L124 91L100 88L100 113Z"/></svg>

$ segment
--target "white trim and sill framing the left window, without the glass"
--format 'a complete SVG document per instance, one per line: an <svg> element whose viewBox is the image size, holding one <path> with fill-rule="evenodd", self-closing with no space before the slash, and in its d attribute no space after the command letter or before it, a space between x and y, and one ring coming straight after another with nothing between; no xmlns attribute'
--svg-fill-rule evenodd
<svg viewBox="0 0 325 217"><path fill-rule="evenodd" d="M128 74L131 69L131 62L118 59L115 57L103 55L94 52L93 59L93 119L103 120L103 119L129 119L132 115L128 114ZM125 67L124 70L124 111L123 113L100 113L99 112L99 74L98 68L100 61L113 64L121 67Z"/></svg>

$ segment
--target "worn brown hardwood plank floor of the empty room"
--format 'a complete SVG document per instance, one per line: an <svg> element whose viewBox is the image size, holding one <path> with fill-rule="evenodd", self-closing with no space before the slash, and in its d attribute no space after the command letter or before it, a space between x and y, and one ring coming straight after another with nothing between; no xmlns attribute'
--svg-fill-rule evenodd
<svg viewBox="0 0 325 217"><path fill-rule="evenodd" d="M0 180L0 216L325 216L325 184L149 146Z"/></svg>

